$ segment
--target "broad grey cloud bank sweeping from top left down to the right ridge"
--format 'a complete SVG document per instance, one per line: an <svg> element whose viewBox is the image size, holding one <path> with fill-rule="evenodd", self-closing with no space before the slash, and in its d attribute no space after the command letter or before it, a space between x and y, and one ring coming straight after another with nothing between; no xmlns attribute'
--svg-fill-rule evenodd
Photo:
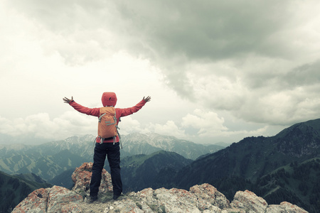
<svg viewBox="0 0 320 213"><path fill-rule="evenodd" d="M181 97L245 121L290 124L320 113L317 1L8 4L65 38L46 43L66 61L125 50L159 67Z"/></svg>

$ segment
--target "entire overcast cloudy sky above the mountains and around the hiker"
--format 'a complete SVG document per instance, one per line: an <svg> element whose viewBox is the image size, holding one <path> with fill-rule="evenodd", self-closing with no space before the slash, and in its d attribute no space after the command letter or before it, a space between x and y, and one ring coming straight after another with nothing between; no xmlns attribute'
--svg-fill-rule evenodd
<svg viewBox="0 0 320 213"><path fill-rule="evenodd" d="M120 133L274 136L320 114L320 1L0 1L0 133L96 134L73 96L151 96Z"/></svg>

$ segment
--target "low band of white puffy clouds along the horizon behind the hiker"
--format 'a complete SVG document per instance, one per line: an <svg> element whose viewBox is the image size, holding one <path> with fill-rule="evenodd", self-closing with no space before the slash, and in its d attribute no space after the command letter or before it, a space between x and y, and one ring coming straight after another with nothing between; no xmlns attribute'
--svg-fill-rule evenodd
<svg viewBox="0 0 320 213"><path fill-rule="evenodd" d="M212 143L218 141L237 142L247 136L270 136L270 126L254 130L232 130L225 126L222 117L214 112L196 109L183 116L182 121L166 121L164 124L148 123L126 116L119 122L120 135L129 133L154 132L166 136L193 141ZM274 132L274 131L273 131ZM86 134L96 135L97 118L80 114L78 111L65 111L58 117L50 118L47 113L33 114L26 118L9 120L0 116L0 133L18 138L36 138L38 140L61 140L70 136ZM271 135L272 136L272 135Z"/></svg>

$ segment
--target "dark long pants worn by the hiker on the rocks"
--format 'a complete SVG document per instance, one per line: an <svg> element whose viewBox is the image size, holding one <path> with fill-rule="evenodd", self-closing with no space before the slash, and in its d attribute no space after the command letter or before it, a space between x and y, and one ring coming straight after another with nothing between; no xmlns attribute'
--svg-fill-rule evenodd
<svg viewBox="0 0 320 213"><path fill-rule="evenodd" d="M99 192L102 169L105 165L106 155L110 165L113 194L120 195L122 193L119 143L96 143L95 154L93 155L90 196L95 196Z"/></svg>

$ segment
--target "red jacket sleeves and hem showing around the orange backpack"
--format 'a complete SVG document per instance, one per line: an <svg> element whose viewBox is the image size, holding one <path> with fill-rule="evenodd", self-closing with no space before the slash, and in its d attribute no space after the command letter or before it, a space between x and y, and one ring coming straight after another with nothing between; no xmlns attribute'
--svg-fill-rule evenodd
<svg viewBox="0 0 320 213"><path fill-rule="evenodd" d="M80 111L83 114L87 114L87 115L90 115L90 116L97 116L97 117L99 117L99 115L100 115L100 108L83 107L82 105L77 104L75 101L70 102L69 104L75 110ZM139 102L134 107L124 108L124 109L116 108L115 110L116 110L116 117L117 117L117 125L119 124L120 117L128 116L130 114L134 114L134 112L137 112L137 111L139 111L139 109L144 107L144 104L146 104L146 102L144 100L142 100L141 102ZM119 142L119 136L117 136L116 141ZM100 143L100 138L97 138L96 142ZM113 138L106 139L105 141L103 141L103 143L113 143L113 142L114 142Z"/></svg>

